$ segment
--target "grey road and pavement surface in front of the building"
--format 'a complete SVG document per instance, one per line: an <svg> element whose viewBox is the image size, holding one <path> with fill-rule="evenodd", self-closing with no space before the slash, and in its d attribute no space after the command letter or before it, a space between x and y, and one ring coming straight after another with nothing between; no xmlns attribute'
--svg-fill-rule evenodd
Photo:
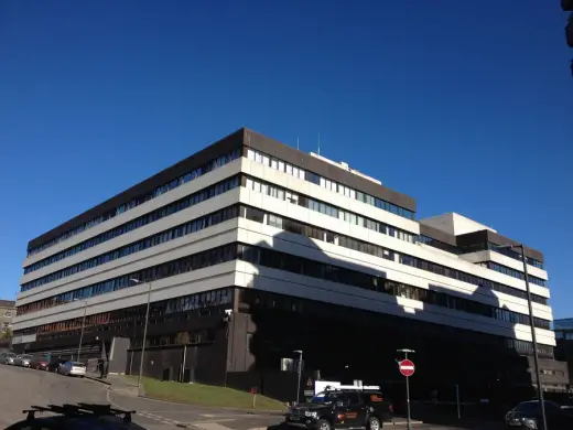
<svg viewBox="0 0 573 430"><path fill-rule="evenodd" d="M136 410L133 420L149 430L279 430L282 417L277 412L261 412L195 405L172 404L138 397L134 381L119 375L109 375L107 380L73 378L53 373L0 365L0 428L25 418L21 411L32 405L46 406L96 402L111 404L117 408ZM11 389L18 387L18 389ZM406 420L385 423L385 428L406 430ZM497 430L482 424L434 426L419 421L414 430Z"/></svg>

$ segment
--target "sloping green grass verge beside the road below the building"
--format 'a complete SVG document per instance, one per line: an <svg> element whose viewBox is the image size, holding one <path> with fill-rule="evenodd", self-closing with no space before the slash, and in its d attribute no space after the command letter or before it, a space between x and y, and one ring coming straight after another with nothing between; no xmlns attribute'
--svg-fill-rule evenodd
<svg viewBox="0 0 573 430"><path fill-rule="evenodd" d="M225 408L252 409L252 395L233 388L202 384L181 384L143 378L145 396L184 404L218 406ZM284 404L257 395L255 409L285 410Z"/></svg>

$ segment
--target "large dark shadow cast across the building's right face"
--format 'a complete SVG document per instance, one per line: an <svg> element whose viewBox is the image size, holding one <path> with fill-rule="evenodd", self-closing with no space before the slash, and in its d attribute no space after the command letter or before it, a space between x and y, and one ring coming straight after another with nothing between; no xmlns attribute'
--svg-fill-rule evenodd
<svg viewBox="0 0 573 430"><path fill-rule="evenodd" d="M257 387L269 397L293 401L298 351L302 351L300 399L307 397L305 391L312 390L316 379L345 384L358 379L381 386L402 415L406 384L398 372L401 354L397 350L410 348L415 351L411 358L417 365L410 378L414 418L455 421L460 400L462 418L502 419L509 406L532 397L528 361L502 337L445 325L442 310L452 315L450 323L461 327L475 327L476 319L483 326L502 325L493 316L508 310L500 308L491 290L479 287L474 293L452 295L430 281L428 289L412 288L388 279L383 267L392 264L385 265L383 258L378 269L365 269L349 258L327 254L322 244L302 232L281 232L242 249L242 259L257 270L239 294L239 312L233 321L234 338L247 340L248 350L234 342L228 359L230 386ZM309 259L289 256L294 248ZM396 266L401 270L401 265ZM476 303L478 298L489 307ZM410 299L422 300L423 305ZM507 322L506 326L507 337L512 337L513 326ZM285 358L292 359L286 369Z"/></svg>

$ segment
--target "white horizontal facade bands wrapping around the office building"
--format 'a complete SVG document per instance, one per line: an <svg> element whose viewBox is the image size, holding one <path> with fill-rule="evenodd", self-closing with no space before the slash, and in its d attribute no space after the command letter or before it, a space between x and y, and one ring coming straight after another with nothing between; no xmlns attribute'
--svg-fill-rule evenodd
<svg viewBox="0 0 573 430"><path fill-rule="evenodd" d="M240 158L171 192L143 203L131 211L44 249L43 251L26 258L23 266L28 267L36 261L238 173L245 173L267 183L275 184L302 195L311 196L317 201L336 206L339 209L376 219L412 235L420 234L420 224L415 221L407 219L372 205L361 203L355 198L325 190L320 185L278 171L271 166L262 165L248 158ZM182 223L238 203L260 208L266 213L277 214L336 234L378 245L396 252L401 252L446 266L448 268L457 269L518 290L525 291L526 289L523 281L478 265L478 262L489 260L499 262L500 265L505 265L516 270L521 269L519 261L498 255L497 252L486 250L462 256L448 254L432 248L431 246L402 240L365 227L352 225L343 218L334 218L333 216L314 212L310 208L299 206L288 201L274 198L270 195L258 193L244 186L228 191L184 211L166 216L155 223L137 228L130 233L99 244L61 261L29 272L22 277L21 283L30 282L45 275L67 268L71 265L82 262L88 258L131 244L134 240L149 237L167 228L175 227ZM447 230L448 233L452 232L453 234L464 234L489 228L468 218L457 216L457 214L448 214L446 217L429 218L423 222L432 227ZM230 219L187 236L163 243L142 251L131 254L127 257L21 292L18 295L17 307L48 299L71 290L235 241L256 245L259 247L268 247L285 254L323 261L328 265L345 267L352 270L359 270L376 276L383 273L383 277L389 280L403 282L421 289L439 287L441 290L447 291L448 294L454 297L469 299L522 314L528 313L527 301L519 297L489 289L486 290L475 284L402 265L396 259L391 261L369 254L348 249L336 244L288 233L270 225L246 218ZM544 270L534 267L530 268L530 275L544 280L548 279L548 273ZM512 324L493 318L461 312L448 308L426 304L417 300L393 297L381 292L329 282L323 279L295 275L268 267L257 267L246 261L228 261L154 281L152 284L151 300L156 301L171 299L194 292L208 291L231 286L255 288L263 291L307 298L408 319L445 324L520 341L531 341L531 333L528 325ZM87 314L96 314L143 304L147 301L147 289L148 284L136 284L119 291L88 298ZM534 294L544 298L550 297L549 289L545 287L531 284L531 291ZM18 332L42 324L80 318L84 313L84 307L85 301L82 300L18 315L13 321L13 330ZM541 303L533 303L533 314L543 320L551 321L553 319L551 308ZM537 329L537 337L538 342L544 345L555 345L554 334L550 330Z"/></svg>

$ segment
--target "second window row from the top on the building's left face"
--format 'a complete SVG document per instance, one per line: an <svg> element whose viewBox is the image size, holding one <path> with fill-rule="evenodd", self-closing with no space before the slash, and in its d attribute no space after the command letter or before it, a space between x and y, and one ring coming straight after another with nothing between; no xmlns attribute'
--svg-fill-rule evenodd
<svg viewBox="0 0 573 430"><path fill-rule="evenodd" d="M44 258L43 260L36 261L33 265L30 265L24 268L24 275L30 273L34 270L39 270L54 262L61 261L67 257L82 252L105 241L115 239L118 236L133 232L134 229L143 227L150 223L160 221L165 216L176 214L177 212L184 211L191 206L205 202L219 194L226 193L227 191L236 189L237 186L239 186L239 176L230 178L215 185L203 189L194 194L187 195L184 198L170 203L169 205L165 205L163 207L160 207L159 209L142 215L133 221L130 221L129 223L122 224L90 239L84 240L83 243L77 244L72 248L54 254L53 256Z"/></svg>

